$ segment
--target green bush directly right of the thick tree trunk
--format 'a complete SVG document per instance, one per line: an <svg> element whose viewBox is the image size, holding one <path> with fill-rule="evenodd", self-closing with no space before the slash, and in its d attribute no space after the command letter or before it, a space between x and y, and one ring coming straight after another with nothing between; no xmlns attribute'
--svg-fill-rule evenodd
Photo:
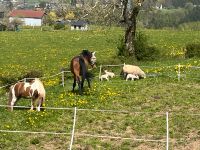
<svg viewBox="0 0 200 150"><path fill-rule="evenodd" d="M135 56L137 60L155 60L160 55L159 50L148 45L146 35L141 32L137 32L135 38Z"/></svg>

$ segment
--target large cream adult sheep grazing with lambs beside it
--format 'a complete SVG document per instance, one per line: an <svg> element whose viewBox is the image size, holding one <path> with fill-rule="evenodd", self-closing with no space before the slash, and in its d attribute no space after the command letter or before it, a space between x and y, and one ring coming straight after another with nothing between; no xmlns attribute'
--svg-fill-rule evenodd
<svg viewBox="0 0 200 150"><path fill-rule="evenodd" d="M146 74L138 66L124 64L122 72L123 74L134 74L139 78L146 78Z"/></svg>

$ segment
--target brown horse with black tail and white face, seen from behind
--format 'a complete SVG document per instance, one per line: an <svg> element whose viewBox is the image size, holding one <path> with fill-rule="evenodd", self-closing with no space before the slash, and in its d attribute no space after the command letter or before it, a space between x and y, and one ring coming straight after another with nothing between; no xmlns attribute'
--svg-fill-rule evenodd
<svg viewBox="0 0 200 150"><path fill-rule="evenodd" d="M71 72L74 75L74 83L72 91L74 91L77 82L79 87L79 94L82 95L83 84L85 79L87 80L88 86L90 88L88 65L94 67L95 63L96 63L95 52L90 52L88 50L83 50L79 56L75 56L74 58L72 58L70 64Z"/></svg>

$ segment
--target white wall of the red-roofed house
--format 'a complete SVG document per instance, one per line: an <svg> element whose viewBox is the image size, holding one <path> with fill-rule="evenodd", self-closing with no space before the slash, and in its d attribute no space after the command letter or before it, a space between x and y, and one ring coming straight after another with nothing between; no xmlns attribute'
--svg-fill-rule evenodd
<svg viewBox="0 0 200 150"><path fill-rule="evenodd" d="M13 17L10 17L10 22L13 20ZM41 26L42 25L42 19L35 19L35 18L17 18L23 21L25 26Z"/></svg>

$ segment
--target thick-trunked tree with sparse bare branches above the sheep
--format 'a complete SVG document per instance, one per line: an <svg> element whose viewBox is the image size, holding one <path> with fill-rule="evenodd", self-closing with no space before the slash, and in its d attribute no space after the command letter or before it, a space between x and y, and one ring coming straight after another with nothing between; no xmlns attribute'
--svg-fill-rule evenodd
<svg viewBox="0 0 200 150"><path fill-rule="evenodd" d="M136 20L144 0L98 0L90 7L88 16L93 15L95 21L109 24L111 21L118 21L124 24L124 44L126 53L135 56L134 38L136 34ZM119 13L121 12L121 13ZM117 16L117 17L116 17ZM113 19L113 20L112 20Z"/></svg>

